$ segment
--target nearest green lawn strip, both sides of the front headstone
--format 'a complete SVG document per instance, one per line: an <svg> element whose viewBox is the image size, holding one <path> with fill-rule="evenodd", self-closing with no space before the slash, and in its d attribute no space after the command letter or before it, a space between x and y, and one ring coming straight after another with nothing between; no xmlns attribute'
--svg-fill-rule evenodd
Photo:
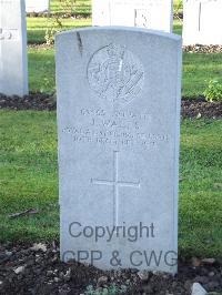
<svg viewBox="0 0 222 295"><path fill-rule="evenodd" d="M0 241L59 237L54 112L0 111ZM222 255L221 121L184 121L179 245L184 255ZM39 214L10 220L27 208Z"/></svg>

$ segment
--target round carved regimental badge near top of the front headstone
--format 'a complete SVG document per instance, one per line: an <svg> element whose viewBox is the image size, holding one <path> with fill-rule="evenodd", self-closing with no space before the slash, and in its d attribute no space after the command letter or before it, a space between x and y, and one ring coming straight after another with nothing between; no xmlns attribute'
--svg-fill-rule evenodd
<svg viewBox="0 0 222 295"><path fill-rule="evenodd" d="M141 62L122 45L98 50L88 64L88 81L93 91L113 105L131 102L143 88Z"/></svg>

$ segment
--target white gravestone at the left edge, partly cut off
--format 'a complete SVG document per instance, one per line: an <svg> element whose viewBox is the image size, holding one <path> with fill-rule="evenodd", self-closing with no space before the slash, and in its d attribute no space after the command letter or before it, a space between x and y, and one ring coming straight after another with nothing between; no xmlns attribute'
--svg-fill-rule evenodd
<svg viewBox="0 0 222 295"><path fill-rule="evenodd" d="M28 94L27 24L23 0L0 0L0 93Z"/></svg>

